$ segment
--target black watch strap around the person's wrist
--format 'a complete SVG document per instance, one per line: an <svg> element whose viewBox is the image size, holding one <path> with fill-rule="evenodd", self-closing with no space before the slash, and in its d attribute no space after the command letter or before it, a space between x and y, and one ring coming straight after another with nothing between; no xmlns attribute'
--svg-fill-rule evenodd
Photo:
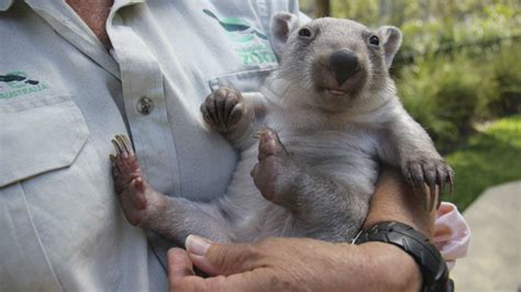
<svg viewBox="0 0 521 292"><path fill-rule="evenodd" d="M423 276L422 291L454 291L448 269L436 247L420 232L399 222L383 222L362 231L354 244L381 242L395 245L409 254Z"/></svg>

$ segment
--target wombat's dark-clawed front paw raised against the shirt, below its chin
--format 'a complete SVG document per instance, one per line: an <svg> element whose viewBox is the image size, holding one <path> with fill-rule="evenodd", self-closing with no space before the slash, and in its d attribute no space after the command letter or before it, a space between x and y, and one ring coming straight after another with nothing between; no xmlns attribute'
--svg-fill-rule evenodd
<svg viewBox="0 0 521 292"><path fill-rule="evenodd" d="M202 117L213 130L228 133L247 116L244 98L235 89L220 88L201 104Z"/></svg>

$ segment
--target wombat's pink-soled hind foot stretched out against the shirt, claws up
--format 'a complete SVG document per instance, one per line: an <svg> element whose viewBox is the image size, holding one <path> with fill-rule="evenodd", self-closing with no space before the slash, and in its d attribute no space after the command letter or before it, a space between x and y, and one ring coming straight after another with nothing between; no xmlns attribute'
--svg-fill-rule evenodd
<svg viewBox="0 0 521 292"><path fill-rule="evenodd" d="M147 227L165 205L163 195L143 179L130 139L117 135L112 144L117 153L110 156L112 176L123 213L131 224Z"/></svg>

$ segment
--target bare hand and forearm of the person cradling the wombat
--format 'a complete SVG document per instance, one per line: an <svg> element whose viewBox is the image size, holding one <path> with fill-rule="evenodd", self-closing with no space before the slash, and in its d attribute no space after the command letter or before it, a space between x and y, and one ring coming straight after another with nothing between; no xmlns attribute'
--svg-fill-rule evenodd
<svg viewBox="0 0 521 292"><path fill-rule="evenodd" d="M423 211L422 200L398 171L384 171L365 227L393 220L431 237L434 213ZM268 238L220 245L189 236L186 247L168 251L171 291L419 291L422 283L412 257L384 243ZM212 277L195 276L193 266Z"/></svg>

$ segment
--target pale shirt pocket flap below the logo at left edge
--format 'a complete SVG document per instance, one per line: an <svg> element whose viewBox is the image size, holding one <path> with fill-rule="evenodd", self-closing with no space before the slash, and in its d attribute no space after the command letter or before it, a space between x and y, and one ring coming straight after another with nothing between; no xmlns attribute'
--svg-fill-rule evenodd
<svg viewBox="0 0 521 292"><path fill-rule="evenodd" d="M0 100L0 187L68 167L89 131L70 96Z"/></svg>

